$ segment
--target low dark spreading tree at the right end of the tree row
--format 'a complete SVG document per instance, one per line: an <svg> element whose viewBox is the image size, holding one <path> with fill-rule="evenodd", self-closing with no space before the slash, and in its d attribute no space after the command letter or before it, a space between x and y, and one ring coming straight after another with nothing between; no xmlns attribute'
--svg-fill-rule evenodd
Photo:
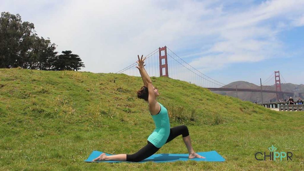
<svg viewBox="0 0 304 171"><path fill-rule="evenodd" d="M63 54L57 56L54 61L54 70L76 70L78 71L80 67L85 67L79 55L72 54L72 51L62 51Z"/></svg>

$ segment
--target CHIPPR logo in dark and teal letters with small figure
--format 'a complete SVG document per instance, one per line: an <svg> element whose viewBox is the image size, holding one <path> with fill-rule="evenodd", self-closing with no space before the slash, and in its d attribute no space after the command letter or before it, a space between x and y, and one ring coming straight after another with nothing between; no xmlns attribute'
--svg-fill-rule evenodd
<svg viewBox="0 0 304 171"><path fill-rule="evenodd" d="M268 153L266 155L266 152L264 152L264 159L261 158L261 156L263 157L263 153L262 152L255 153L255 155L254 155L255 159L257 159L257 160L264 160L265 161L266 158L269 157L270 161L271 160L276 161L276 160L279 160L279 158L282 161L284 158L287 157L286 158L287 161L288 161L288 159L292 160L291 159L291 157L293 155L292 152L287 152L287 153L286 152L275 152L275 150L277 150L277 148L275 148L273 145L271 147L269 147L268 150L270 151L269 155L268 155Z"/></svg>

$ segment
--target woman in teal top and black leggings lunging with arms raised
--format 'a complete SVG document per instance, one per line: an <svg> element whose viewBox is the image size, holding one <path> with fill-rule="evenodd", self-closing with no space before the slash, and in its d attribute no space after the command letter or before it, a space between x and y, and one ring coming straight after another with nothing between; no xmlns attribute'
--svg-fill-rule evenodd
<svg viewBox="0 0 304 171"><path fill-rule="evenodd" d="M99 157L93 161L128 161L128 162L140 162L156 153L164 144L170 142L178 135L182 135L185 145L189 152L189 159L193 158L205 158L196 154L191 145L191 139L188 132L188 128L185 125L170 128L170 122L167 109L159 102L156 101L156 97L159 96L158 89L152 85L152 81L147 74L144 66L143 55L141 58L138 56L138 66L140 75L143 79L144 86L137 91L137 96L140 99L144 99L149 103L149 111L155 123L155 129L148 137L148 144L141 148L134 154L117 154L107 156L102 153Z"/></svg>

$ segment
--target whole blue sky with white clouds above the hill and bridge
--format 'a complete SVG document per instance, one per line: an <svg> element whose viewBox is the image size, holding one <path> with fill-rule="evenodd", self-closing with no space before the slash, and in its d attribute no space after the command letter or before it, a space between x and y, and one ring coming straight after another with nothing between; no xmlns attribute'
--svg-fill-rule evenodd
<svg viewBox="0 0 304 171"><path fill-rule="evenodd" d="M259 84L274 71L304 84L303 9L304 0L0 0L0 12L78 54L80 71L116 73L167 46L224 84Z"/></svg>

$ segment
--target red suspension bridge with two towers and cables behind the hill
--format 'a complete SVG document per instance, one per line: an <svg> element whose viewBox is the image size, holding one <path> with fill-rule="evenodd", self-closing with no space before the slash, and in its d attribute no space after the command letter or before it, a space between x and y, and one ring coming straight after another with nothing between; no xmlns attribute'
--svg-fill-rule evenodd
<svg viewBox="0 0 304 171"><path fill-rule="evenodd" d="M209 89L210 91L236 91L236 92L267 92L267 93L276 93L277 99L283 98L286 96L294 96L293 92L283 92L281 89L281 77L279 71L275 71L272 73L268 79L261 81L261 88L256 89L239 89L236 87L232 87L230 85L223 84L222 82L216 81L209 76L203 74L199 70L195 69L191 65L189 65L186 61L180 58L177 54L175 54L168 47L159 47L155 49L153 52L146 56L145 60L145 68L148 72L149 76L154 77L169 77L171 79L177 79L181 81L186 81L191 84L195 84L204 88ZM136 62L133 64L123 68L122 70L116 72L118 74L126 74L130 76L140 77L140 73L137 71L135 67L137 65ZM275 88L276 90L270 90L271 82L275 78ZM282 77L285 81L284 77ZM285 81L286 82L286 81ZM264 88L267 87L267 88ZM299 93L301 95L301 93Z"/></svg>

